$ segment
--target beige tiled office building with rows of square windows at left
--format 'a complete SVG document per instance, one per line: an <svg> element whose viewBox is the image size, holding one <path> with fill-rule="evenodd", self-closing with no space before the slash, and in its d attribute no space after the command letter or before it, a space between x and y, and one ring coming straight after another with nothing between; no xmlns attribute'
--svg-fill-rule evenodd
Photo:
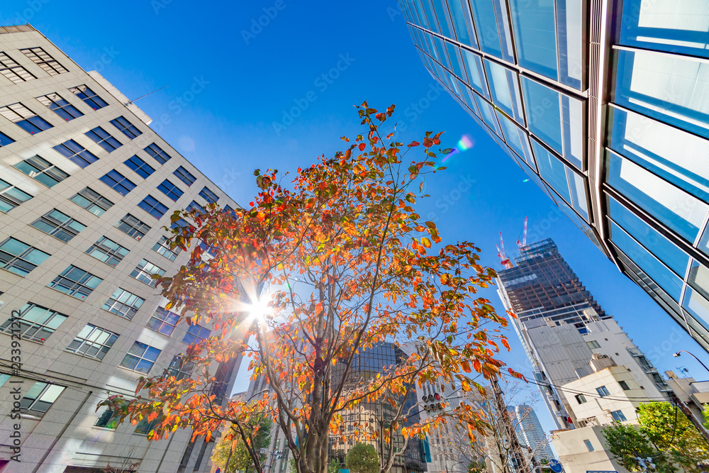
<svg viewBox="0 0 709 473"><path fill-rule="evenodd" d="M210 330L176 325L150 279L189 256L162 227L176 209L236 205L149 124L31 26L0 28L3 472L203 471L211 443L182 430L148 443L147 422L96 412L108 394L134 396L138 377L189 375L179 354ZM230 394L239 361L214 394Z"/></svg>

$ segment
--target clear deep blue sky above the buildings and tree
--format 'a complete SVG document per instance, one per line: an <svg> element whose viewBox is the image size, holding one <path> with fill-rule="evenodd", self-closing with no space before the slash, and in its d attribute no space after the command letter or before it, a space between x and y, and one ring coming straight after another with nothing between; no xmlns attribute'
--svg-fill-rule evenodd
<svg viewBox="0 0 709 473"><path fill-rule="evenodd" d="M506 236L511 256L529 216L530 234L535 225L545 228L537 235L554 239L581 281L660 372L687 367L697 379L709 379L686 355L671 356L683 349L709 362L703 350L568 219L552 222L552 202L535 184L523 182L517 165L436 87L396 1L200 6L185 0L5 0L0 17L2 25L30 23L130 99L169 85L137 104L165 140L242 204L255 194L256 167L294 171L339 150L340 136L359 133L352 105L363 100L380 109L396 104L395 117L406 124L404 142L425 130L445 130L446 148L469 135L474 147L428 179L431 197L420 212L435 214L444 243L471 240L481 247L484 264L499 269L498 233ZM252 30L267 13L272 18L261 18L266 26ZM298 116L284 121L298 103ZM276 130L274 122L284 128ZM485 294L503 311L493 289ZM529 374L515 333L508 335L512 352L503 360ZM545 429L552 428L543 406L537 413Z"/></svg>

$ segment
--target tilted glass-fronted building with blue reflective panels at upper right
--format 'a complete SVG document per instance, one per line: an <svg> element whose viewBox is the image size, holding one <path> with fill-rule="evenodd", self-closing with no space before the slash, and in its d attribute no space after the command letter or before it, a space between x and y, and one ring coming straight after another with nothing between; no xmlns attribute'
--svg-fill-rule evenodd
<svg viewBox="0 0 709 473"><path fill-rule="evenodd" d="M437 82L709 350L709 3L400 4Z"/></svg>

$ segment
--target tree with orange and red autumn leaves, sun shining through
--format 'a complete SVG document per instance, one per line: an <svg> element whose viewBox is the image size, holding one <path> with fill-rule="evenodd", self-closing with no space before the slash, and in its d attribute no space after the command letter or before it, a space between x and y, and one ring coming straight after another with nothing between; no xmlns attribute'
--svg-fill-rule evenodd
<svg viewBox="0 0 709 473"><path fill-rule="evenodd" d="M276 170L257 169L260 190L244 208L208 204L205 211L174 213L172 245L191 257L177 274L159 278L162 295L186 323L211 325L211 336L186 350L185 362L197 366L193 377L141 379L137 399L113 396L104 404L118 408L122 420L158 419L152 440L178 428L210 438L223 423L238 428L266 413L298 473L326 472L334 436L356 441L399 433L408 441L447 422L462 423L470 438L485 432L469 406L457 406L454 418L404 425L403 400L417 386L455 381L484 391L467 373L498 374L498 343L509 345L498 330L506 319L476 296L495 277L480 264L479 248L443 243L435 223L415 211L423 177L445 169L440 158L450 150L434 149L442 133L427 132L421 143L393 142L393 134L379 133L393 111L393 105L384 112L357 106L364 134L342 137L340 152L298 168L289 183ZM352 360L384 341L416 349L376 377L348 384ZM250 404L220 403L212 391L216 367L244 352L254 376L267 377L267 392ZM337 379L335 365L343 370ZM384 428L342 429L343 411L377 400L392 406ZM381 473L406 441L403 448L386 444ZM261 469L257 449L245 445Z"/></svg>

